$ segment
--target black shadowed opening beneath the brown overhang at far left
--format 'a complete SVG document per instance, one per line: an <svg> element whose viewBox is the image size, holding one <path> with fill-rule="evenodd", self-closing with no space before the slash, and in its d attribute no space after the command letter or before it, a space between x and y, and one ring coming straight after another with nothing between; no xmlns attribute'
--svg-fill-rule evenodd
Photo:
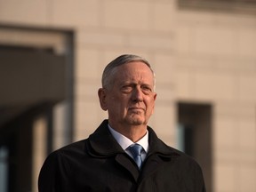
<svg viewBox="0 0 256 192"><path fill-rule="evenodd" d="M15 116L6 124L0 127L0 150L5 151L2 159L2 170L4 172L0 182L4 184L3 192L31 191L32 160L33 160L33 123L36 116L47 115L49 121L47 132L52 140L52 104L42 103L41 105L28 108L19 116ZM48 147L51 142L46 142ZM1 161L1 159L0 159Z"/></svg>

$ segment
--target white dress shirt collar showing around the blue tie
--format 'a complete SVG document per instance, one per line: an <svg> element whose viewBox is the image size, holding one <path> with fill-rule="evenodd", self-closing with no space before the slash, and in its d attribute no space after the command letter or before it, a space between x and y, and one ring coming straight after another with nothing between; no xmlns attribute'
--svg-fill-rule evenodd
<svg viewBox="0 0 256 192"><path fill-rule="evenodd" d="M132 144L134 144L134 142L132 142L132 140L128 139L127 137L125 137L123 134L121 134L120 132L116 132L116 130L114 130L112 127L110 127L110 125L108 124L108 129L111 132L111 134L113 135L113 137L116 139L116 141L118 142L118 144L121 146L121 148L124 149L124 151L129 155L132 156L130 150L128 149ZM136 142L137 144L140 144L140 146L142 146L143 150L141 152L141 159L142 162L145 160L146 156L147 156L147 152L148 152L148 130L145 136L143 136L140 140L138 140Z"/></svg>

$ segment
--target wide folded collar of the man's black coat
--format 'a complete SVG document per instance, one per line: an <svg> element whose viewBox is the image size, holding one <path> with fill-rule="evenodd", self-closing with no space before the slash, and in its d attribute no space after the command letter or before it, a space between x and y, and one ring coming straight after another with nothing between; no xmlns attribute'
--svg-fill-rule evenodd
<svg viewBox="0 0 256 192"><path fill-rule="evenodd" d="M116 163L132 174L134 180L138 180L140 175L140 180L143 180L161 166L163 162L171 161L173 157L179 156L174 148L165 145L162 140L159 140L156 133L149 126L148 134L149 150L147 158L142 165L142 172L139 172L137 166L132 162L132 158L124 152L123 148L109 132L108 120L104 120L98 129L89 136L87 152L90 156L97 158L113 156Z"/></svg>

